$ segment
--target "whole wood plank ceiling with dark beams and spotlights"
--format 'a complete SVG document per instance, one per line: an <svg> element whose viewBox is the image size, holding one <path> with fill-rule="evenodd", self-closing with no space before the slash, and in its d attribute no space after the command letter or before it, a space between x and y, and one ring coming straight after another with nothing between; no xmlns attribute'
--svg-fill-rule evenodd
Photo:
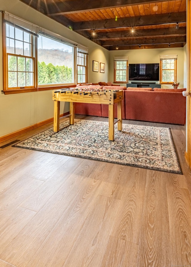
<svg viewBox="0 0 191 267"><path fill-rule="evenodd" d="M108 50L186 44L186 0L20 1Z"/></svg>

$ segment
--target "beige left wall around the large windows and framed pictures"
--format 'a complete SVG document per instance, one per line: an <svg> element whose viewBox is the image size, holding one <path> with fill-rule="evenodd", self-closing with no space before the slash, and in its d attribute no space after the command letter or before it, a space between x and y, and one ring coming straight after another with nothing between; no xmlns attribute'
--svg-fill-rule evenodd
<svg viewBox="0 0 191 267"><path fill-rule="evenodd" d="M108 80L109 51L56 21L28 7L19 0L0 0L0 10L5 10L47 30L89 47L88 82ZM2 72L2 19L0 13L0 88L3 90ZM105 63L105 73L93 72L92 60ZM0 93L0 137L53 117L52 90L4 95ZM61 114L67 112L68 103L61 103Z"/></svg>

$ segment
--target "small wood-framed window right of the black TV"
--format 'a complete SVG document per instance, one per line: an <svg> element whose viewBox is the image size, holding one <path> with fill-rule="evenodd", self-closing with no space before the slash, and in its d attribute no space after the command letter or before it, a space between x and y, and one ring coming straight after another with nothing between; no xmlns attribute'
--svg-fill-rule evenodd
<svg viewBox="0 0 191 267"><path fill-rule="evenodd" d="M160 83L168 84L176 81L177 55L160 56Z"/></svg>

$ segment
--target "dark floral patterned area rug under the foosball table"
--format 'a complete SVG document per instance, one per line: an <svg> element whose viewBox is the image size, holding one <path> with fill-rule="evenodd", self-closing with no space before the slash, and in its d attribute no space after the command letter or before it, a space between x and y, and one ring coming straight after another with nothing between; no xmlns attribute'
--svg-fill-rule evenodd
<svg viewBox="0 0 191 267"><path fill-rule="evenodd" d="M16 145L17 148L75 156L134 167L182 174L169 128L123 124L108 140L108 122L75 119Z"/></svg>

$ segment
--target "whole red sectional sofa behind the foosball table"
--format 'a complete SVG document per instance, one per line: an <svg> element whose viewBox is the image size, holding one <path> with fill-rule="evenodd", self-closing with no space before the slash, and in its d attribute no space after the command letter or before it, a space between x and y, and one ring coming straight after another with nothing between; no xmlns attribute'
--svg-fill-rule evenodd
<svg viewBox="0 0 191 267"><path fill-rule="evenodd" d="M123 86L93 86L81 88L98 88L123 90L122 118L169 124L186 123L186 89L132 88ZM78 88L80 88L78 86ZM75 114L108 117L108 105L75 103ZM115 104L117 118L117 104Z"/></svg>

